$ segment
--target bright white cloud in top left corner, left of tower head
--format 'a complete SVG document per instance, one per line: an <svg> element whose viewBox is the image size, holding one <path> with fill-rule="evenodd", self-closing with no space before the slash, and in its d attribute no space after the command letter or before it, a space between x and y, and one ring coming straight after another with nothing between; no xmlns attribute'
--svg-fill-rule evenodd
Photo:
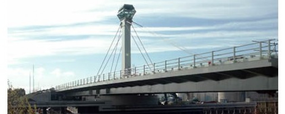
<svg viewBox="0 0 285 114"><path fill-rule="evenodd" d="M100 21L116 14L114 9L84 12L100 7L103 3L102 1L12 0L8 2L8 26L64 25Z"/></svg>

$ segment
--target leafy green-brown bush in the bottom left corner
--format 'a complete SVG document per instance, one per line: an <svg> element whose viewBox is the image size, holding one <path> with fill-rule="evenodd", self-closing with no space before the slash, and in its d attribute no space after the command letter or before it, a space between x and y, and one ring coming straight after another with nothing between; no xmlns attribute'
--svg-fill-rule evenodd
<svg viewBox="0 0 285 114"><path fill-rule="evenodd" d="M35 114L36 107L34 109L31 107L23 88L13 89L8 80L7 94L8 114Z"/></svg>

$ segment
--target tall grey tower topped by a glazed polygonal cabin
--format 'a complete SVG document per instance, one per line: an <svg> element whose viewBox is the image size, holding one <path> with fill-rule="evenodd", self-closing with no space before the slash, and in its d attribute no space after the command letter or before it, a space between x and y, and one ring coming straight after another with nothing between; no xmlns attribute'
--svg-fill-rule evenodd
<svg viewBox="0 0 285 114"><path fill-rule="evenodd" d="M122 29L122 71L129 74L131 68L131 25L136 10L133 5L124 4L118 11L118 18L121 21Z"/></svg>

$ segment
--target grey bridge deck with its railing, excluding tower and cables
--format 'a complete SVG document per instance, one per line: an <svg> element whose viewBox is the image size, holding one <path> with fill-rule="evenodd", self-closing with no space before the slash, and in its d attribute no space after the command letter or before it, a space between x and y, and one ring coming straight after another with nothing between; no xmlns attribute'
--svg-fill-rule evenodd
<svg viewBox="0 0 285 114"><path fill-rule="evenodd" d="M278 56L271 41L148 64L152 69L142 65L109 72L55 89L74 95L278 90Z"/></svg>

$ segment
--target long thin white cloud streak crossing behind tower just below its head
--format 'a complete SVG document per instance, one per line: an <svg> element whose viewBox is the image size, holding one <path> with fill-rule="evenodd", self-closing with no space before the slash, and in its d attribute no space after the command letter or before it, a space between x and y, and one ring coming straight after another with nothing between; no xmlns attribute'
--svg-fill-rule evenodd
<svg viewBox="0 0 285 114"><path fill-rule="evenodd" d="M230 22L225 24L211 25L211 26L193 26L193 27L136 27L136 31L139 36L142 37L173 37L173 35L158 34L156 32L161 31L189 31L195 33L197 30L227 30L227 29L262 29L268 27L278 26L278 19L267 19L259 21L245 21L245 22ZM31 31L31 30L18 30L8 34L9 37L29 37L29 36L40 36L40 35L50 35L50 36L62 36L62 35L107 35L114 36L118 25L84 25L75 27L54 27L43 29L41 31ZM75 32L76 31L76 32ZM132 30L133 31L133 30ZM135 35L134 31L132 32ZM106 37L107 37L106 36ZM13 41L11 39L10 41Z"/></svg>

